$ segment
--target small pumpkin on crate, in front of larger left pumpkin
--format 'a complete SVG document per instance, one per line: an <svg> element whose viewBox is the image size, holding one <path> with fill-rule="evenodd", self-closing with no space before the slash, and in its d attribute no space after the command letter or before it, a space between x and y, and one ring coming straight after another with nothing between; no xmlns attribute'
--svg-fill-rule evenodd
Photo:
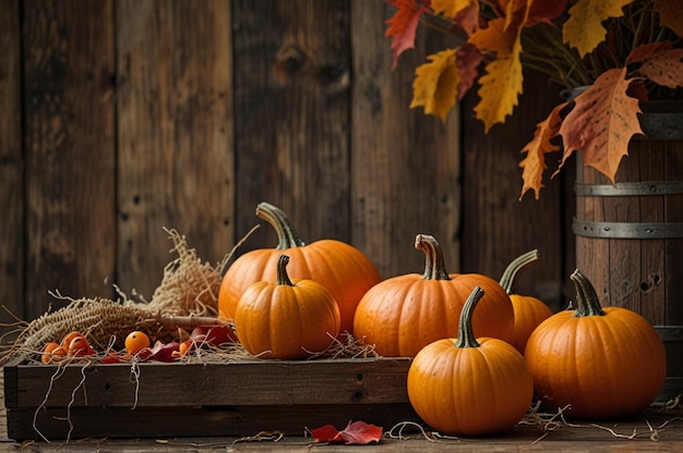
<svg viewBox="0 0 683 453"><path fill-rule="evenodd" d="M339 308L332 294L313 280L292 282L288 262L280 255L277 280L250 285L235 311L240 343L263 358L310 357L329 347L339 333Z"/></svg>

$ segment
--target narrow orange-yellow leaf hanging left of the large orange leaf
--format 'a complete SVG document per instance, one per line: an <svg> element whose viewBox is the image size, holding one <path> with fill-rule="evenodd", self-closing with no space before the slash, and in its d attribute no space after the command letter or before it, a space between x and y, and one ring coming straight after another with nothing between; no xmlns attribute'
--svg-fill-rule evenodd
<svg viewBox="0 0 683 453"><path fill-rule="evenodd" d="M522 152L526 152L527 157L519 162L519 167L524 169L522 172L524 185L522 186L519 199L529 189L534 189L535 198L539 199L541 187L543 187L543 172L548 168L546 166L546 155L560 149L560 146L552 144L551 139L560 132L560 125L562 124L560 112L566 105L567 102L563 102L556 106L546 120L538 123L534 139L522 149Z"/></svg>

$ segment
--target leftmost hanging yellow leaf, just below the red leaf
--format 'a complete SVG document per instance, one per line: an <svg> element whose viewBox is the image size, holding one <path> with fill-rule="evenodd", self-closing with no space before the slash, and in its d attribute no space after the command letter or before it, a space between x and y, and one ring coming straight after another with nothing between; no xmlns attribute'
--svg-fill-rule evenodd
<svg viewBox="0 0 683 453"><path fill-rule="evenodd" d="M446 49L428 57L431 63L420 65L412 82L410 108L424 107L424 113L442 121L457 101L460 76L455 64L457 49Z"/></svg>

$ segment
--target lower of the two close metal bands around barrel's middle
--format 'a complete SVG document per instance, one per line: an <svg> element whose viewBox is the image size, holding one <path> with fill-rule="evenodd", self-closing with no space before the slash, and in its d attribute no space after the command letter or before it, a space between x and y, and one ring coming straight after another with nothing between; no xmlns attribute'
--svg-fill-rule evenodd
<svg viewBox="0 0 683 453"><path fill-rule="evenodd" d="M683 237L683 223L591 222L574 218L572 230L577 236L634 240Z"/></svg>

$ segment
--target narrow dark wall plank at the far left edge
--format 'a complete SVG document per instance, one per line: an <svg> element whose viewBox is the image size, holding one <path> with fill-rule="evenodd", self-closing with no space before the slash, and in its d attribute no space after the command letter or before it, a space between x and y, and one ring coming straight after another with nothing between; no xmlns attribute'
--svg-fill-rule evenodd
<svg viewBox="0 0 683 453"><path fill-rule="evenodd" d="M24 160L19 0L0 0L0 303L24 317Z"/></svg>

